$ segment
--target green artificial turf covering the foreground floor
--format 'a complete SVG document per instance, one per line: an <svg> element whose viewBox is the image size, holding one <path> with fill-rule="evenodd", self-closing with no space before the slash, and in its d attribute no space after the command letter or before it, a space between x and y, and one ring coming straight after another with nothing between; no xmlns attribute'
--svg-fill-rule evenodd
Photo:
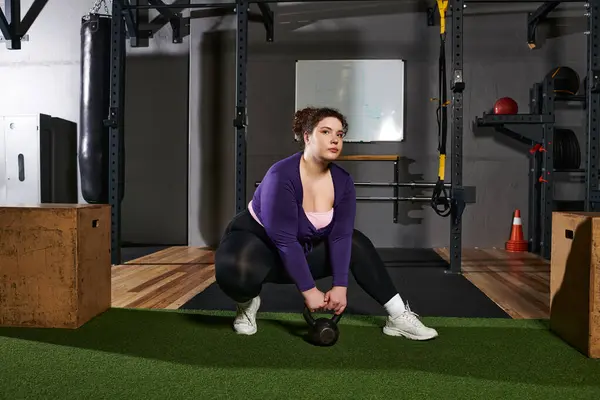
<svg viewBox="0 0 600 400"><path fill-rule="evenodd" d="M0 328L2 399L599 399L600 360L543 321L425 318L440 337L382 334L344 316L314 347L299 314L111 309L78 330Z"/></svg>

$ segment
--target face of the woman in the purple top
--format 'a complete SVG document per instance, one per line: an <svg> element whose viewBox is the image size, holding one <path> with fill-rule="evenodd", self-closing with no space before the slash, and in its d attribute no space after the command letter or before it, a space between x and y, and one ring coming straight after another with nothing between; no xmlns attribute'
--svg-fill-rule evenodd
<svg viewBox="0 0 600 400"><path fill-rule="evenodd" d="M345 133L335 117L323 118L311 134L304 134L305 151L322 160L333 161L342 152Z"/></svg>

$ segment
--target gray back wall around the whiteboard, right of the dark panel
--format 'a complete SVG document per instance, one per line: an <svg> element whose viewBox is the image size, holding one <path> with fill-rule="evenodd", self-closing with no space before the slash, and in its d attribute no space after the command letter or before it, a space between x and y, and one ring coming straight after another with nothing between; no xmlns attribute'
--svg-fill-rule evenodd
<svg viewBox="0 0 600 400"><path fill-rule="evenodd" d="M348 4L274 5L278 21L274 43L265 42L261 24L250 24L248 200L254 182L268 167L298 150L291 134L296 59L405 59L406 140L346 144L344 151L399 154L405 157L402 180L437 178L436 104L429 99L437 96L439 28L426 25L419 2L407 1L401 6ZM528 149L498 137L493 130L473 129L475 117L503 96L513 97L520 111L528 112L528 88L554 66L569 65L582 79L585 75L585 36L582 29L568 32L575 23L570 17L581 17L583 6L569 6L574 11L557 14L569 18L548 30L549 39L541 50L531 51L526 44L525 11L535 6L513 5L513 11L506 12L511 6L469 5L465 18L463 171L464 184L477 186L477 204L468 206L464 214L465 247L503 246L515 208L521 209L527 221ZM191 25L189 234L193 245L216 244L234 213L234 22L233 17L211 18L194 20ZM559 33L560 38L550 38ZM450 60L450 44L447 49ZM580 133L583 115L565 110L558 118L563 126ZM581 143L583 146L585 142ZM356 181L392 179L389 164L344 166ZM410 193L402 191L401 195ZM369 194L391 195L391 191L358 190L358 195ZM437 216L428 206L407 203L401 203L400 214L400 223L394 224L391 203L360 203L356 227L379 247L448 245L447 218Z"/></svg>

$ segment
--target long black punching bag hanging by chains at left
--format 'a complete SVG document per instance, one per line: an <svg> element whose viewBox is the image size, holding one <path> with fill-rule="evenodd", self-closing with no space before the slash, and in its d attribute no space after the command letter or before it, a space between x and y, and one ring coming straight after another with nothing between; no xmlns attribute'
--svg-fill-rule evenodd
<svg viewBox="0 0 600 400"><path fill-rule="evenodd" d="M81 24L79 174L91 204L108 203L111 18L90 14Z"/></svg>

